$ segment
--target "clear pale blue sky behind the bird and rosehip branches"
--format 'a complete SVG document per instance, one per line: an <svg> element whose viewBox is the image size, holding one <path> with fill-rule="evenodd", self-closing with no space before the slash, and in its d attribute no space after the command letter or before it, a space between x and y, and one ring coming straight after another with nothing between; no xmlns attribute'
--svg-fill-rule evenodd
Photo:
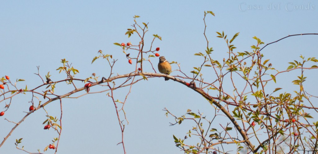
<svg viewBox="0 0 318 154"><path fill-rule="evenodd" d="M274 5L277 5L276 10ZM233 42L237 52L252 51L250 46L256 44L253 36L266 44L292 34L318 32L316 1L1 1L0 76L9 75L11 81L25 79L17 86L24 88L27 84L34 88L41 84L40 78L33 74L37 73L36 66L40 66L42 77L50 71L53 81L61 80L66 76L56 69L61 66L60 60L66 58L79 70L77 78L90 77L92 73L107 77L106 61L97 60L91 64L98 50L118 59L115 69L119 74L131 72L135 67L127 63L120 47L113 43L138 43L135 35L130 38L124 35L131 28L135 15L141 16L138 22L149 23L145 47L149 49L152 34L158 34L162 37L162 41L154 43L154 47L160 47L158 53L170 62L180 63L182 70L191 76L190 71L202 60L193 54L204 52L206 48L204 11L215 13L215 17L208 15L206 18L206 34L217 60L223 59L227 47L224 40L216 37L216 31L224 31L228 36L240 32ZM290 37L266 47L263 53L276 69L286 70L287 62L299 59L301 54L318 57L317 39L317 36ZM152 62L156 65L158 59L153 58ZM146 68L153 72L150 67ZM172 65L172 69L176 70L177 66ZM317 71L308 71L308 75L311 75L307 79L308 86L317 86ZM205 78L208 79L209 74ZM288 88L293 87L293 80L282 76L277 83ZM275 86L278 85L273 88ZM65 84L58 88L62 92L71 90ZM123 99L127 90L116 91L116 97ZM0 117L1 137L13 127L4 118L21 119L30 100L30 94L14 97L10 109ZM0 103L0 108L4 103ZM129 121L125 128L128 153L183 153L175 147L172 134L185 136L192 124L169 126L174 119L165 117L164 107L175 115L182 115L187 109L206 114L214 112L203 97L171 80L151 78L135 84L125 105ZM59 102L47 105L46 110L59 117ZM0 148L0 153L25 153L15 149L16 138L24 138L21 145L27 151L43 151L56 137L52 130L43 130L44 120L43 110L29 116ZM121 145L116 145L121 141L121 132L114 104L106 93L64 99L62 122L59 153L123 153Z"/></svg>

